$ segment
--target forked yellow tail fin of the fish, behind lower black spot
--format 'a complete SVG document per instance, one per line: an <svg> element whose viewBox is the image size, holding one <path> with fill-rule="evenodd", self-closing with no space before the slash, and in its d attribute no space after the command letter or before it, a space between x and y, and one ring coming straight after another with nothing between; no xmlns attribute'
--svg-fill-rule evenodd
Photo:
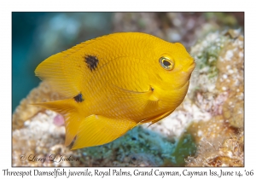
<svg viewBox="0 0 256 179"><path fill-rule="evenodd" d="M73 141L79 130L79 125L84 118L82 113L79 112L79 108L76 107L76 102L73 99L40 102L32 105L39 107L45 107L49 110L61 113L65 118L66 126L66 139L65 145L68 146Z"/></svg>

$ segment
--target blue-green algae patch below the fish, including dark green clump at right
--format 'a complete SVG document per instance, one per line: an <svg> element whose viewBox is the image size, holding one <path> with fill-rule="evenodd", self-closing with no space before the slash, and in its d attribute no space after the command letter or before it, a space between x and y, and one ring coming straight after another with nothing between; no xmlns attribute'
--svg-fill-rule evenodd
<svg viewBox="0 0 256 179"><path fill-rule="evenodd" d="M98 160L132 162L143 159L155 166L184 166L185 159L195 155L196 145L194 137L189 133L184 133L178 141L171 141L153 130L138 126L111 143L82 150L84 156Z"/></svg>

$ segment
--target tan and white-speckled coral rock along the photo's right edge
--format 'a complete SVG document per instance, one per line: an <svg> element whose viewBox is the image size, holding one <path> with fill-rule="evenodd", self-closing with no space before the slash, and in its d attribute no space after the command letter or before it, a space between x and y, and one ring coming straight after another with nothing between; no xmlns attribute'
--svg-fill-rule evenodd
<svg viewBox="0 0 256 179"><path fill-rule="evenodd" d="M189 128L199 147L196 156L186 160L187 166L243 166L243 37L239 31L218 36L226 40L216 61L215 88L198 88L194 95L195 104L212 118Z"/></svg>

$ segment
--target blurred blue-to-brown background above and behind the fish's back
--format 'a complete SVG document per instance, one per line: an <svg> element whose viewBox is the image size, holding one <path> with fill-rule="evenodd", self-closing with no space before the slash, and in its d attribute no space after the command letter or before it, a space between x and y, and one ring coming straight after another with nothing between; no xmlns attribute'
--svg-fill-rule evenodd
<svg viewBox="0 0 256 179"><path fill-rule="evenodd" d="M189 50L208 32L244 30L244 13L12 13L12 111L50 55L113 32L146 32Z"/></svg>

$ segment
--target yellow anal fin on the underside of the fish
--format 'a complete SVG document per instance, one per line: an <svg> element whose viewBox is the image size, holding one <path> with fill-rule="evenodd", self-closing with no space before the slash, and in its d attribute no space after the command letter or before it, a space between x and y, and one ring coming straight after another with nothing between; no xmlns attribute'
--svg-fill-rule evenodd
<svg viewBox="0 0 256 179"><path fill-rule="evenodd" d="M137 123L131 119L90 115L80 123L72 149L106 144L123 136L136 125Z"/></svg>

